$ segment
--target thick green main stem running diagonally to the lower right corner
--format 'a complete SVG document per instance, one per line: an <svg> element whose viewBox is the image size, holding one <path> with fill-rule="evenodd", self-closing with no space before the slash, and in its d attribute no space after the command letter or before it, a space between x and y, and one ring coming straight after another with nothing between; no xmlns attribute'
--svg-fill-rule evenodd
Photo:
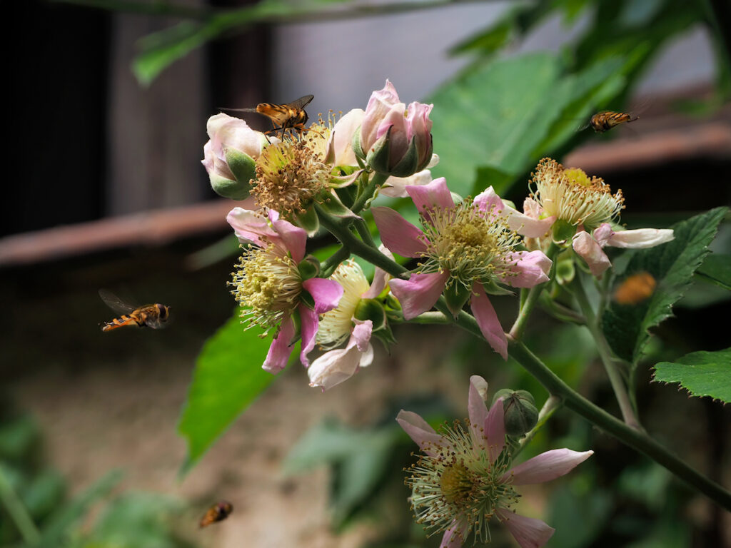
<svg viewBox="0 0 731 548"><path fill-rule="evenodd" d="M352 253L381 267L391 275L400 277L406 273L404 267L393 262L377 249L371 248L358 240L354 235L350 234L346 227L341 227L341 223L328 216L327 213L322 212L320 221L344 246L348 246ZM444 308L444 316L447 319L452 319L452 314L447 311L444 297L439 297L436 308L439 310ZM423 319L427 317L429 316L423 316ZM441 317L439 316L431 317L441 321ZM423 321L423 323L426 322ZM460 311L454 319L454 323L457 327L480 338L480 340L485 340L482 337L477 320L471 314ZM615 416L607 413L604 409L591 403L586 397L583 397L562 381L556 373L553 373L548 368L548 365L545 365L545 363L538 359L523 343L515 340L510 335L507 335L507 340L510 357L515 359L526 371L531 373L548 390L550 395L559 398L567 408L583 416L588 422L591 422L591 424L604 430L607 434L612 435L627 446L632 447L632 449L647 455L659 465L667 468L675 476L678 476L683 482L686 482L689 487L711 498L712 501L719 504L722 508L731 511L731 492L728 492L721 485L703 476L685 461L657 443L645 432L626 425Z"/></svg>

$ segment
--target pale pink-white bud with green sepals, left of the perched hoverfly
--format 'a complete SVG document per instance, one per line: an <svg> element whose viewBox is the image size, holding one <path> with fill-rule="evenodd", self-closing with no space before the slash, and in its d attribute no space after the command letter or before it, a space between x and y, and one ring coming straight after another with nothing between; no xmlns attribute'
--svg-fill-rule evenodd
<svg viewBox="0 0 731 548"><path fill-rule="evenodd" d="M256 176L254 161L266 144L266 137L245 121L223 113L208 118L206 129L210 140L203 147L201 163L213 191L224 198L246 198L249 181Z"/></svg>

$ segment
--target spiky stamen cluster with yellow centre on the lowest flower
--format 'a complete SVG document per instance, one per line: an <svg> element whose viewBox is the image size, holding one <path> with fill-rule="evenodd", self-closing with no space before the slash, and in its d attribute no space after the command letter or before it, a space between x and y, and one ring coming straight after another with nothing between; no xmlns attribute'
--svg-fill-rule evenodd
<svg viewBox="0 0 731 548"><path fill-rule="evenodd" d="M426 454L406 469L417 523L431 536L457 520L468 525L467 535L474 533L475 542L487 543L495 509L509 509L518 501L512 485L502 481L510 457L503 452L491 463L485 449L474 445L469 428L458 421L443 425L439 433L444 440L425 447Z"/></svg>

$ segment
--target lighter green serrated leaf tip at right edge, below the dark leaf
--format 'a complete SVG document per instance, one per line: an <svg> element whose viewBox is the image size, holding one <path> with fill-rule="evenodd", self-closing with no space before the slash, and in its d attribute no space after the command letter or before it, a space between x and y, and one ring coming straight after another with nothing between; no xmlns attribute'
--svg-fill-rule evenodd
<svg viewBox="0 0 731 548"><path fill-rule="evenodd" d="M675 362L659 362L653 380L677 382L694 396L731 403L731 348L693 352Z"/></svg>

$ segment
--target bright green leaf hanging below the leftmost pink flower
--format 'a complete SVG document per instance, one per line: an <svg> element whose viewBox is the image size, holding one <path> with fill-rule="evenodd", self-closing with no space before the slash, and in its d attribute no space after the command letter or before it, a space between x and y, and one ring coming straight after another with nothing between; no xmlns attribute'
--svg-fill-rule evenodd
<svg viewBox="0 0 731 548"><path fill-rule="evenodd" d="M238 311L205 341L196 360L178 433L188 442L181 473L187 473L274 376L261 365L271 337L244 330Z"/></svg>

